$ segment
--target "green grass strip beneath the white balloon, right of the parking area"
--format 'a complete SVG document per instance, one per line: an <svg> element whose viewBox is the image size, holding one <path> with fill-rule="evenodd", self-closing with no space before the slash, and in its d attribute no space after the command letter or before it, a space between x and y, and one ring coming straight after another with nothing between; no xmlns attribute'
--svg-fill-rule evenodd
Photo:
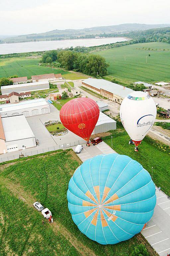
<svg viewBox="0 0 170 256"><path fill-rule="evenodd" d="M111 147L111 138L104 139ZM122 155L127 155L138 161L151 175L153 167L153 182L157 187L170 196L170 155L160 151L156 146L148 143L144 138L139 145L139 151L134 152L134 145L129 145L129 136L121 135L113 138L113 149Z"/></svg>

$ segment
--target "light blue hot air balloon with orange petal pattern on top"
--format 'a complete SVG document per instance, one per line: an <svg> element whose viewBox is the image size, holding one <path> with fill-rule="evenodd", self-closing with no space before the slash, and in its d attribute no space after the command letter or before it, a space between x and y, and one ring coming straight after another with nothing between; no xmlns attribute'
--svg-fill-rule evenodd
<svg viewBox="0 0 170 256"><path fill-rule="evenodd" d="M116 244L139 233L156 204L149 173L119 154L98 155L79 166L67 199L79 230L100 244Z"/></svg>

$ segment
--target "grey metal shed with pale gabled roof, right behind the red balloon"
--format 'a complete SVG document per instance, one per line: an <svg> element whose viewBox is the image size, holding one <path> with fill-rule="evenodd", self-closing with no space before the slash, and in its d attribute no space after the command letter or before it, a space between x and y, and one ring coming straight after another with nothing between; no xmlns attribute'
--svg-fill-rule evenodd
<svg viewBox="0 0 170 256"><path fill-rule="evenodd" d="M100 112L99 119L92 134L116 130L116 121Z"/></svg>

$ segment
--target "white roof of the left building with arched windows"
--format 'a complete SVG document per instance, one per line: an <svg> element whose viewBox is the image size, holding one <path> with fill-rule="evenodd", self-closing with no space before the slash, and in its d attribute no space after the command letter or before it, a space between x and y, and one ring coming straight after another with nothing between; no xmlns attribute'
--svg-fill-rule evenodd
<svg viewBox="0 0 170 256"><path fill-rule="evenodd" d="M35 100L25 100L20 101L18 103L8 103L8 104L1 104L0 105L0 113L7 112L7 111L13 111L13 110L19 110L19 109L25 109L25 108L32 108L32 107L38 107L48 105L45 99L35 99Z"/></svg>

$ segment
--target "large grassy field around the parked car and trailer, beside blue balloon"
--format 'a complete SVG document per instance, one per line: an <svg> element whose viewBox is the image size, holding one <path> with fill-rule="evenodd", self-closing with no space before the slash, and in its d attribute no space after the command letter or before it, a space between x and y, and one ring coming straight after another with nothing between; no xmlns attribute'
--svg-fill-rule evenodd
<svg viewBox="0 0 170 256"><path fill-rule="evenodd" d="M141 234L116 245L100 245L83 235L67 207L68 182L81 164L72 150L1 164L0 255L27 256L122 256L144 243ZM48 207L54 223L49 224L33 208L40 201Z"/></svg>

